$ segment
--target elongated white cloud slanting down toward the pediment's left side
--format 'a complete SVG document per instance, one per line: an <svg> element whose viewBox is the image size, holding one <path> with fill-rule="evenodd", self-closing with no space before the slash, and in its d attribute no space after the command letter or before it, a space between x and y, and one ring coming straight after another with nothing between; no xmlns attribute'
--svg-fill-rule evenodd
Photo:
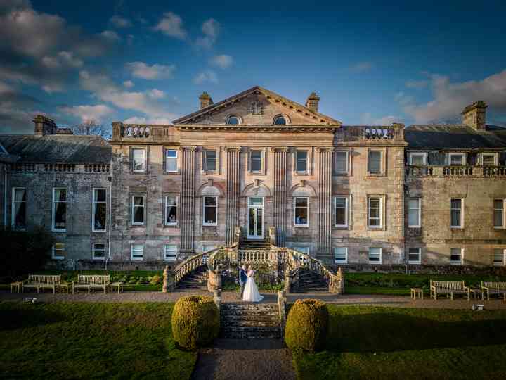
<svg viewBox="0 0 506 380"><path fill-rule="evenodd" d="M96 98L124 110L135 110L150 115L152 118L174 118L175 116L174 113L167 110L167 106L174 105L174 99L171 99L172 104L160 103L161 95L163 94L165 97L160 90L124 91L106 75L93 75L86 70L79 72L79 82L83 89L91 91Z"/></svg>

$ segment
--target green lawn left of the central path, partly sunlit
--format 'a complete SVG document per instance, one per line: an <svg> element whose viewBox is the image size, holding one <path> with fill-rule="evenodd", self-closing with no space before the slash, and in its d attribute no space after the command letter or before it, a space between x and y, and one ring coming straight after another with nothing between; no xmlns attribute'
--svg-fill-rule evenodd
<svg viewBox="0 0 506 380"><path fill-rule="evenodd" d="M189 379L169 303L0 303L2 379Z"/></svg>

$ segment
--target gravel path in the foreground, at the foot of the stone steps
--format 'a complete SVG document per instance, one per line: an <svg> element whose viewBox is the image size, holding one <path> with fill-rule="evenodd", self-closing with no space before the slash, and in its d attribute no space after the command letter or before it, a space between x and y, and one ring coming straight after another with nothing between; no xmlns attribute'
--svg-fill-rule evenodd
<svg viewBox="0 0 506 380"><path fill-rule="evenodd" d="M217 339L200 350L193 380L296 379L290 350L280 339Z"/></svg>

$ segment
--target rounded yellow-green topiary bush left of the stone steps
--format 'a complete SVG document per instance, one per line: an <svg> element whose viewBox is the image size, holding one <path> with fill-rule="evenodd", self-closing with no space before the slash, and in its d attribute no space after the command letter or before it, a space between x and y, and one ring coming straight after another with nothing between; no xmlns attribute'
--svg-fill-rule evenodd
<svg viewBox="0 0 506 380"><path fill-rule="evenodd" d="M179 298L172 312L172 335L179 346L196 350L219 334L220 318L212 297Z"/></svg>

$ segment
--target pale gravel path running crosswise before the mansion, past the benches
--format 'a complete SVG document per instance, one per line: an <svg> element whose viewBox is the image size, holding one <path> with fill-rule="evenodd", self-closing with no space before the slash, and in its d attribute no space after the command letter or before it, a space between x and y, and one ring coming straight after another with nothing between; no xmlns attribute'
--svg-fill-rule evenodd
<svg viewBox="0 0 506 380"><path fill-rule="evenodd" d="M9 293L0 291L0 300L23 300L25 297L36 297L44 303L58 302L98 302L98 303L141 303L141 302L176 302L184 296L209 296L207 291L175 291L173 293L161 293L155 291L126 291L124 293L91 293L85 292L77 294L55 294L52 293ZM262 292L265 297L262 303L277 303L277 293ZM464 298L455 300L433 299L411 300L408 296L380 296L380 295L353 295L344 294L342 296L332 293L298 293L287 296L288 303L294 303L299 298L318 298L326 303L335 305L378 305L391 306L395 308L437 308L437 309L468 309L474 303L484 305L486 309L506 309L506 303L503 300L474 300L467 302ZM238 302L239 294L237 291L225 291L221 295L223 302Z"/></svg>

